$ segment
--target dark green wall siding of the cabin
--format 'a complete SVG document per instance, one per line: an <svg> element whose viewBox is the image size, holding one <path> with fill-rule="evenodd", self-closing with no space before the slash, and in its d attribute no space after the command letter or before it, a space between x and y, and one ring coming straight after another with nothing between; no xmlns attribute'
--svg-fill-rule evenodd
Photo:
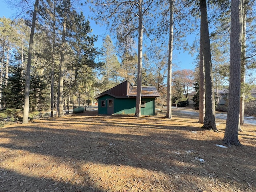
<svg viewBox="0 0 256 192"><path fill-rule="evenodd" d="M104 95L98 98L98 114L107 114L107 100L114 99L114 114L135 114L136 99L135 98L114 98L109 95ZM105 100L105 107L101 107L101 101ZM145 107L141 107L142 115L155 115L155 99L142 98L146 102Z"/></svg>

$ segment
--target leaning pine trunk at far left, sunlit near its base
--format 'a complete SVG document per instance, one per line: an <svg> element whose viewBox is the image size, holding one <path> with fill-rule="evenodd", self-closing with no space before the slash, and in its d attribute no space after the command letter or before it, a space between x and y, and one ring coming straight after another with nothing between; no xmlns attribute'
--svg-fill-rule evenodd
<svg viewBox="0 0 256 192"><path fill-rule="evenodd" d="M28 64L26 68L26 84L25 84L25 93L24 93L24 110L23 110L23 122L22 124L28 123L28 113L29 113L29 91L30 91L30 68L32 60L32 48L34 40L34 30L36 25L36 14L38 10L38 0L35 1L34 12L32 18L31 33L28 46Z"/></svg>

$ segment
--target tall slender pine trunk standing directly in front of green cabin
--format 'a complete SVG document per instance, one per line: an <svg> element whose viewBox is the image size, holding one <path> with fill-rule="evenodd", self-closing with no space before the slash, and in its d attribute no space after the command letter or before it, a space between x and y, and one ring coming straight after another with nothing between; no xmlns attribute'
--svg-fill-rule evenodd
<svg viewBox="0 0 256 192"><path fill-rule="evenodd" d="M141 117L141 88L142 88L142 40L143 40L143 25L142 25L142 0L138 1L139 6L139 37L138 37L138 76L137 76L137 96L136 96L136 111L135 116Z"/></svg>

